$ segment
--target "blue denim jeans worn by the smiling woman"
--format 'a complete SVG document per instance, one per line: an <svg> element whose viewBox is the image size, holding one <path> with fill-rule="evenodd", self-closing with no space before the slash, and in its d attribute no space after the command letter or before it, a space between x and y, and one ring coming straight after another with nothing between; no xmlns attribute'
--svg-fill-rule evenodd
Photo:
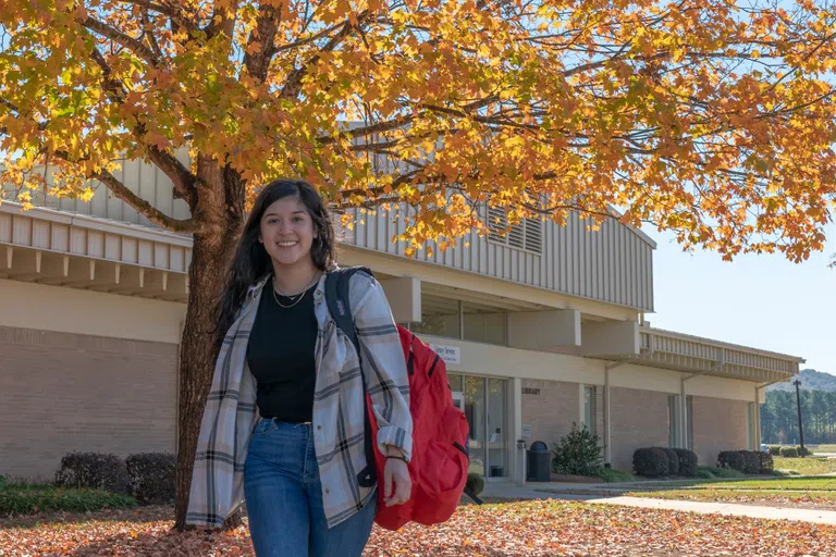
<svg viewBox="0 0 836 557"><path fill-rule="evenodd" d="M258 557L359 557L374 522L377 497L328 528L307 423L262 419L256 424L244 465L244 496Z"/></svg>

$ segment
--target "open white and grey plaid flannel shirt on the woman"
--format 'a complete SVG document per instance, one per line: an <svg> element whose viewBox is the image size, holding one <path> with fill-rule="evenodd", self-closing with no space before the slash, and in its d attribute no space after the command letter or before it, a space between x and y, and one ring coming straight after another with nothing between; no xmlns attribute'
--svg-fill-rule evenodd
<svg viewBox="0 0 836 557"><path fill-rule="evenodd" d="M244 499L244 462L259 419L256 380L247 366L247 343L265 284L247 293L237 319L223 341L214 368L197 440L186 522L220 527ZM365 396L361 373L371 395L380 431L378 446L401 448L408 459L413 444L409 382L392 310L383 288L366 273L349 284L362 369L352 342L328 311L325 275L314 297L319 324L316 342L317 382L312 433L329 528L357 512L374 487L361 487L357 475L366 467Z"/></svg>

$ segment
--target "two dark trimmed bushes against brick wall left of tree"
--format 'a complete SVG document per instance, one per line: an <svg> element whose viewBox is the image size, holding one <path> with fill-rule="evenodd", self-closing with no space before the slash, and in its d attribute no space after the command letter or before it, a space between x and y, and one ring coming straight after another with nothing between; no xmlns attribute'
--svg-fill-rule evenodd
<svg viewBox="0 0 836 557"><path fill-rule="evenodd" d="M116 455L71 453L61 459L56 486L132 495L142 504L171 503L176 468L176 458L169 453L140 453L124 460Z"/></svg>

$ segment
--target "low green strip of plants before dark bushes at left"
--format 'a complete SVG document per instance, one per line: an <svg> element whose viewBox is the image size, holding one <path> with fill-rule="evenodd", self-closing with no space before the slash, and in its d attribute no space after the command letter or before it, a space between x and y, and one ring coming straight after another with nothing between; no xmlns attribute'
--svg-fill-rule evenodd
<svg viewBox="0 0 836 557"><path fill-rule="evenodd" d="M33 515L40 511L88 512L135 506L133 497L103 490L26 483L7 483L0 490L0 516Z"/></svg>

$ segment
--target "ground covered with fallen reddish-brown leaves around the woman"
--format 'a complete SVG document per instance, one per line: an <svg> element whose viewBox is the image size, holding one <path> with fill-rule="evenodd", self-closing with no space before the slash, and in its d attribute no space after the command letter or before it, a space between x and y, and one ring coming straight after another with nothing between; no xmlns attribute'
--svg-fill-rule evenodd
<svg viewBox="0 0 836 557"><path fill-rule="evenodd" d="M0 556L253 555L246 527L181 534L171 518L170 507L146 507L0 520ZM376 529L365 555L824 556L834 547L836 527L546 500L463 506L442 525Z"/></svg>

